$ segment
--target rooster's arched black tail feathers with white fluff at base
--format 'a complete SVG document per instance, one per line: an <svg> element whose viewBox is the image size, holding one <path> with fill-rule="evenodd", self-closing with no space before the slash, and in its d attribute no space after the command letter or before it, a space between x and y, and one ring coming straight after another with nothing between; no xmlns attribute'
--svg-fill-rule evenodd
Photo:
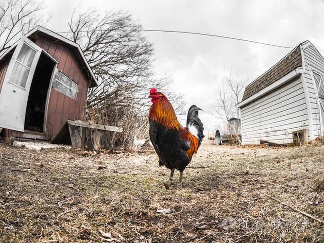
<svg viewBox="0 0 324 243"><path fill-rule="evenodd" d="M198 117L198 111L202 110L196 105L191 105L188 110L187 127L192 135L199 140L199 145L204 136L204 124Z"/></svg>

